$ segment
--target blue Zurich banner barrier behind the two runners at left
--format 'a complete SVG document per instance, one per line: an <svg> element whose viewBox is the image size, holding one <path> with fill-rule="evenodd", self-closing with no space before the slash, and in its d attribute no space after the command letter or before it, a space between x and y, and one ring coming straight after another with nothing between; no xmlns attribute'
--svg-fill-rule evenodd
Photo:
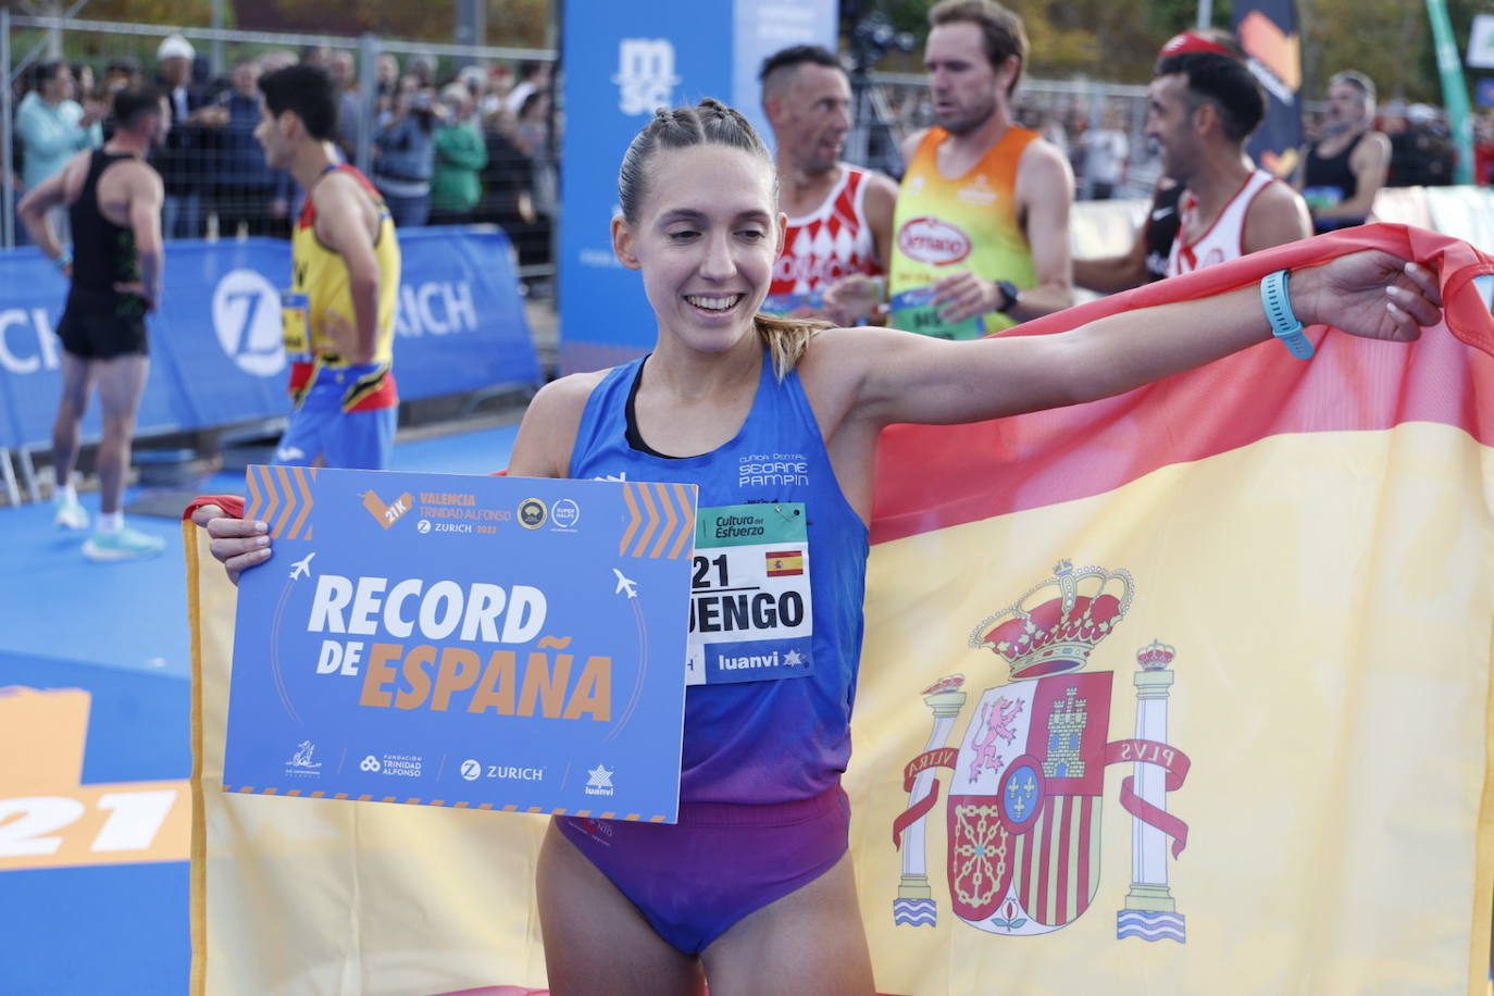
<svg viewBox="0 0 1494 996"><path fill-rule="evenodd" d="M403 400L538 384L509 257L493 227L400 233L402 287L394 370ZM276 239L166 245L166 293L149 321L151 376L137 435L232 426L288 412L279 288L290 243ZM0 455L51 442L61 391L60 345L67 282L34 248L0 254ZM102 433L97 406L84 441ZM15 499L9 460L7 490ZM34 496L33 496L34 497Z"/></svg>

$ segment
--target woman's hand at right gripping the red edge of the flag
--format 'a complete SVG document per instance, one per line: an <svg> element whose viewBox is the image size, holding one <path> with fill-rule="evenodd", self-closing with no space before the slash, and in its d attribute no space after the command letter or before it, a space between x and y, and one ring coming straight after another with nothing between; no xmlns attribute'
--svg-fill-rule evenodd
<svg viewBox="0 0 1494 996"><path fill-rule="evenodd" d="M1367 339L1412 342L1442 321L1437 275L1379 249L1292 270L1291 300L1303 324Z"/></svg>

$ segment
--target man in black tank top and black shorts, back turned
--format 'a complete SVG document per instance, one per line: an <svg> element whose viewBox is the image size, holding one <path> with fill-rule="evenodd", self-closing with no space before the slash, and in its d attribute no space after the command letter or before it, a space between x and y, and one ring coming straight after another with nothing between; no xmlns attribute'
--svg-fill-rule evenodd
<svg viewBox="0 0 1494 996"><path fill-rule="evenodd" d="M31 239L72 281L57 324L63 397L52 426L55 521L64 529L88 526L72 472L88 391L99 385L100 517L84 544L84 555L91 560L151 557L164 545L160 536L125 529L121 503L130 438L149 369L145 315L155 311L161 296L161 178L145 157L164 137L170 118L154 87L121 90L114 115L117 130L109 143L75 155L60 173L33 188L19 209ZM46 217L60 205L67 205L73 252L58 243Z"/></svg>

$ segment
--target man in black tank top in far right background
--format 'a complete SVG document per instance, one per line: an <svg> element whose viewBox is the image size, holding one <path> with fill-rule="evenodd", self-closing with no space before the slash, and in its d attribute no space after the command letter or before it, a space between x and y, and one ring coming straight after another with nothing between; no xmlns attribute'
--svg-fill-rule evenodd
<svg viewBox="0 0 1494 996"><path fill-rule="evenodd" d="M1315 231L1364 224L1385 185L1391 140L1374 131L1374 84L1354 70L1328 81L1324 137L1303 149L1292 184L1312 212Z"/></svg>

